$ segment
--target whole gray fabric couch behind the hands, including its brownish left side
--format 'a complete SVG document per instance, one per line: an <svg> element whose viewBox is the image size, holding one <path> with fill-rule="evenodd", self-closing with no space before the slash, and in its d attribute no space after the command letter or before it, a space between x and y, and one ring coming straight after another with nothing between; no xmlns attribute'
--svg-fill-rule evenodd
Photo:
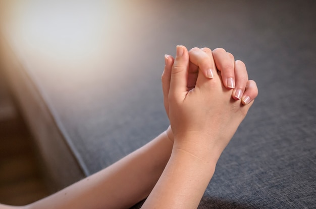
<svg viewBox="0 0 316 209"><path fill-rule="evenodd" d="M199 208L316 208L314 1L6 7L1 66L53 190L168 127L160 79L164 54L181 44L225 48L245 62L259 89Z"/></svg>

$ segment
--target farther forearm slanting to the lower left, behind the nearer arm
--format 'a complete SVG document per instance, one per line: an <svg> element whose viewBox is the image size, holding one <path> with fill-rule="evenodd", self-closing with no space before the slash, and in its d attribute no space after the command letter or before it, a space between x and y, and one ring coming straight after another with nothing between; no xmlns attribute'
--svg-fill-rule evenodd
<svg viewBox="0 0 316 209"><path fill-rule="evenodd" d="M148 196L170 158L172 146L164 132L108 168L30 208L128 208Z"/></svg>

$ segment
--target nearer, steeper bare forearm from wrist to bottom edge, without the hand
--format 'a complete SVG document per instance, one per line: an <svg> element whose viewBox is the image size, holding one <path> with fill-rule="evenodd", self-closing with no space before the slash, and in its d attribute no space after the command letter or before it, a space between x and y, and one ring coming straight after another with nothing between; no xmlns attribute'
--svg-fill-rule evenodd
<svg viewBox="0 0 316 209"><path fill-rule="evenodd" d="M201 146L202 147L202 146ZM174 146L170 160L142 208L197 208L212 178L216 159L212 153L199 155Z"/></svg>

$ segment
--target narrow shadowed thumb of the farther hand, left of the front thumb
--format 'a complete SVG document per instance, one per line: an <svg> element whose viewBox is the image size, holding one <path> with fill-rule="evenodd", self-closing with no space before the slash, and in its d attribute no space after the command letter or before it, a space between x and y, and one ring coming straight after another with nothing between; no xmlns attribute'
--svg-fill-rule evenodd
<svg viewBox="0 0 316 209"><path fill-rule="evenodd" d="M169 88L170 88L170 79L171 79L171 68L174 62L174 58L171 55L165 55L165 68L162 75L162 86L163 86L163 94L164 94L164 105L166 109L167 116L169 118Z"/></svg>

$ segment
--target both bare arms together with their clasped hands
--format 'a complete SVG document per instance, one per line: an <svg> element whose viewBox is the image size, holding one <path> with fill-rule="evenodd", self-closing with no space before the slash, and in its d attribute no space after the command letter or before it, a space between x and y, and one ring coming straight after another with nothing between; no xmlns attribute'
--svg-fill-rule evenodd
<svg viewBox="0 0 316 209"><path fill-rule="evenodd" d="M177 46L177 56L166 55L165 62L162 84L171 123L165 132L56 194L0 208L129 208L148 195L142 208L196 208L257 88L244 64L223 49ZM232 75L242 96L227 85Z"/></svg>

